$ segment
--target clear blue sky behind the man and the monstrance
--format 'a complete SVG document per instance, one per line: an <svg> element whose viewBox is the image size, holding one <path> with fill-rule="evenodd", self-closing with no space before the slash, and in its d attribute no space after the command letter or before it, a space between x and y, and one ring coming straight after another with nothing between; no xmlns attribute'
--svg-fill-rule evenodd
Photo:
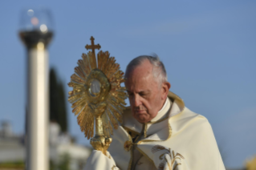
<svg viewBox="0 0 256 170"><path fill-rule="evenodd" d="M125 70L138 55L156 53L171 91L212 124L227 167L256 155L256 2L226 1L1 1L0 121L24 129L26 51L18 38L21 10L48 7L55 37L50 65L65 83L87 52L91 35ZM67 91L71 88L66 87ZM68 105L70 132L88 144Z"/></svg>

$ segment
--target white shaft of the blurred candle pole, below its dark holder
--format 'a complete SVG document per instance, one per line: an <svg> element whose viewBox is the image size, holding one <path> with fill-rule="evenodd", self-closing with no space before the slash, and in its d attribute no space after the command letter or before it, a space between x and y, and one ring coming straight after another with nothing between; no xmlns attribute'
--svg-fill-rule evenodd
<svg viewBox="0 0 256 170"><path fill-rule="evenodd" d="M27 170L48 170L49 69L43 42L27 51Z"/></svg>

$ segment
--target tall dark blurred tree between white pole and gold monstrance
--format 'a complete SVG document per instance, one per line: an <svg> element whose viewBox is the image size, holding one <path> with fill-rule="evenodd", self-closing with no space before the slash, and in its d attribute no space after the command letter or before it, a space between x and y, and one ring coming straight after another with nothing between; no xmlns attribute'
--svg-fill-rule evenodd
<svg viewBox="0 0 256 170"><path fill-rule="evenodd" d="M54 68L50 71L50 120L59 123L61 132L68 131L65 88Z"/></svg>

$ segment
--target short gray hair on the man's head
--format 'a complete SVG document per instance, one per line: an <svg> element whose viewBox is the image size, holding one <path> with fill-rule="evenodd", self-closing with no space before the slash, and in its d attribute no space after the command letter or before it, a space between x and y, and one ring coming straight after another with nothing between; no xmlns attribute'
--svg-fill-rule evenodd
<svg viewBox="0 0 256 170"><path fill-rule="evenodd" d="M152 64L152 75L158 79L159 83L167 82L167 74L165 71L165 65L161 62L156 54L153 55L140 55L128 64L125 71L125 78L128 78L128 71L132 71L134 68L140 66L145 60L148 60Z"/></svg>

